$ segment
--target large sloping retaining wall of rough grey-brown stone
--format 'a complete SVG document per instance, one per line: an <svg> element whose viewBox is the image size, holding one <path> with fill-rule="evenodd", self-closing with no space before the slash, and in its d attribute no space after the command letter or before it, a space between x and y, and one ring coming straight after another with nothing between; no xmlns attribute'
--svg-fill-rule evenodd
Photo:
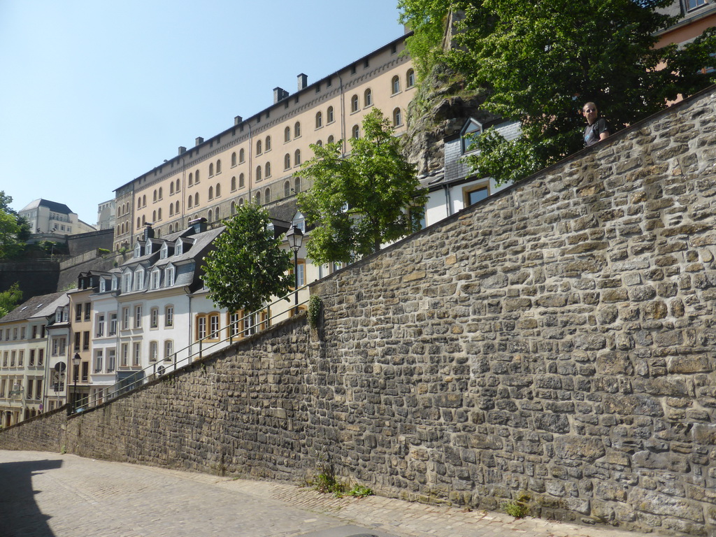
<svg viewBox="0 0 716 537"><path fill-rule="evenodd" d="M319 330L286 321L0 448L327 462L412 500L712 534L715 126L710 90L314 284Z"/></svg>

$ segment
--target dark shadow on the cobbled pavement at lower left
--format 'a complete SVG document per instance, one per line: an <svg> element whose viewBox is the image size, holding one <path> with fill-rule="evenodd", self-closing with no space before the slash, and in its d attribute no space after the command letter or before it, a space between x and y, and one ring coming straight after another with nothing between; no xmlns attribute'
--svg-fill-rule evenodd
<svg viewBox="0 0 716 537"><path fill-rule="evenodd" d="M62 460L0 463L0 535L2 537L54 537L39 510L32 476L62 466Z"/></svg>

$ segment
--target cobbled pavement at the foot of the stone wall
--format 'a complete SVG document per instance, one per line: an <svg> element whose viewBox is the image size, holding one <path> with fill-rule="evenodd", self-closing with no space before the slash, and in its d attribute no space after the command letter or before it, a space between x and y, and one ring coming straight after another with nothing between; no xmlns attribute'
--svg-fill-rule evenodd
<svg viewBox="0 0 716 537"><path fill-rule="evenodd" d="M643 537L286 483L0 450L1 537Z"/></svg>

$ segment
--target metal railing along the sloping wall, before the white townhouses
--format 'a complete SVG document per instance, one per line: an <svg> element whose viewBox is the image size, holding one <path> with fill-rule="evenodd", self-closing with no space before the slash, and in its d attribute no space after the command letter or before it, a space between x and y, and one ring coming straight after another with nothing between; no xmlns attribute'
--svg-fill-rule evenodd
<svg viewBox="0 0 716 537"><path fill-rule="evenodd" d="M281 296L280 299L276 299L271 302L271 304L267 304L266 306L263 306L263 308L257 309L256 311L251 311L251 313L244 315L240 319L236 319L223 329L219 329L218 332L220 333L223 330L228 331L228 336L223 339L217 339L216 332L208 333L197 342L190 343L186 347L173 352L168 358L158 359L156 362L153 362L140 370L127 370L126 372L128 373L130 371L132 372L127 374L127 376L122 379L119 379L114 384L103 388L102 392L95 395L86 395L85 397L77 398L74 403L74 412L83 412L84 410L88 410L90 407L95 407L112 399L116 399L130 390L134 390L135 388L142 386L142 384L146 384L147 382L173 372L180 367L202 359L207 353L211 354L211 352L214 352L215 350L226 347L227 344L231 345L233 342L241 341L241 339L245 339L246 337L252 336L257 332L261 332L261 330L269 328L269 326L271 326L271 321L274 321L274 319L286 316L286 314L288 314L287 318L298 314L297 310L299 307L307 304L308 300L304 300L296 304L294 296L297 296L299 291L306 289L307 287L307 285L301 286L299 289L296 289L296 291L291 291L289 294ZM279 313L272 312L273 306L279 304L281 301L286 301L287 299L291 301L290 306L286 306L286 308L279 311ZM286 304L281 305L283 306ZM266 311L266 317L260 319L260 316L264 311ZM259 318L258 321L256 321L257 318ZM241 326L243 326L243 328L241 328ZM196 347L198 347L198 349L196 349ZM183 354L183 352L187 352L187 355L183 358L178 358L178 355ZM118 371L117 374L119 373L120 372ZM94 387L97 386L95 385Z"/></svg>

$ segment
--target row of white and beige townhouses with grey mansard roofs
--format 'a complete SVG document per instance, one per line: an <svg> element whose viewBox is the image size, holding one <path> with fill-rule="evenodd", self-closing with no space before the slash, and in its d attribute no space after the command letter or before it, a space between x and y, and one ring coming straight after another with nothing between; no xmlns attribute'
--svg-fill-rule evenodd
<svg viewBox="0 0 716 537"><path fill-rule="evenodd" d="M213 305L201 266L223 229L202 218L158 238L147 226L120 266L83 272L77 289L37 296L0 319L0 425L66 402L100 404L291 314L286 301L250 316Z"/></svg>

